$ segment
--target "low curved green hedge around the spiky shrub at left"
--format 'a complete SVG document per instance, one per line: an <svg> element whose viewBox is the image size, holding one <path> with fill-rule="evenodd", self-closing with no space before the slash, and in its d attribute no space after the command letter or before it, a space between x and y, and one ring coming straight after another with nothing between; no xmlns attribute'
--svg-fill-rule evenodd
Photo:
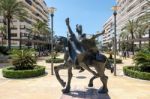
<svg viewBox="0 0 150 99"><path fill-rule="evenodd" d="M2 70L3 77L6 78L29 78L45 74L44 66L35 66L32 70L15 70L14 67L6 67Z"/></svg>

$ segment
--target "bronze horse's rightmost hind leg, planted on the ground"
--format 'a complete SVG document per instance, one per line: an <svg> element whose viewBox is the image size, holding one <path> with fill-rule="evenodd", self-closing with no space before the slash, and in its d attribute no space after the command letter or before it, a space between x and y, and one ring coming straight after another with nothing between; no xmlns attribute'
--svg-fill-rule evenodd
<svg viewBox="0 0 150 99"><path fill-rule="evenodd" d="M99 74L100 80L102 81L102 84L103 84L102 89L100 89L98 91L99 93L107 93L108 92L108 88L107 88L108 77L104 74L104 72L105 72L105 64L106 63L96 62L95 65L94 65L96 71Z"/></svg>

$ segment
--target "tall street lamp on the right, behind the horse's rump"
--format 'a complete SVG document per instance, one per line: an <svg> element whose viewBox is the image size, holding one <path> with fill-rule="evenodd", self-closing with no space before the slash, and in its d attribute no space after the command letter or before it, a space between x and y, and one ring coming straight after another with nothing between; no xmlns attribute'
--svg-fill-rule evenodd
<svg viewBox="0 0 150 99"><path fill-rule="evenodd" d="M116 76L116 53L117 53L117 39L116 39L116 16L117 16L117 10L118 6L113 6L112 10L114 11L114 75Z"/></svg>

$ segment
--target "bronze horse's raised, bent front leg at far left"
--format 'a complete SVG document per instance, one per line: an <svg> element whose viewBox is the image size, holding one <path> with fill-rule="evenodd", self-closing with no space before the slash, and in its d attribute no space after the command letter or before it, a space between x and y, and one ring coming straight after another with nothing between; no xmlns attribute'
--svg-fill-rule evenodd
<svg viewBox="0 0 150 99"><path fill-rule="evenodd" d="M64 64L54 67L56 78L63 87L65 87L66 83L60 78L59 70L66 68L68 68L68 65L65 66Z"/></svg>

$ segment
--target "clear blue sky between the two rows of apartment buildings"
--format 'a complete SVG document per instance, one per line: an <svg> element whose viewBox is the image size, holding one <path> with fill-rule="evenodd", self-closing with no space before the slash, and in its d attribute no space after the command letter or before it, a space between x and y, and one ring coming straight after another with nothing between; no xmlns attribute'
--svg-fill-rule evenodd
<svg viewBox="0 0 150 99"><path fill-rule="evenodd" d="M83 32L94 34L102 31L102 26L112 15L111 7L115 0L45 0L48 7L57 10L54 16L55 35L66 36L65 19L70 18L71 27L75 32L76 24L83 26Z"/></svg>

